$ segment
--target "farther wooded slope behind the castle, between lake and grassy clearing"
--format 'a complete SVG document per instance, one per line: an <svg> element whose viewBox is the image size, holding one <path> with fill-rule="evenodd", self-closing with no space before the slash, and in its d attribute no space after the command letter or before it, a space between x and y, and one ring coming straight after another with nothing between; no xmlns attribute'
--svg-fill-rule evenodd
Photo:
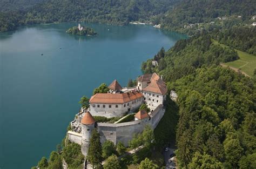
<svg viewBox="0 0 256 169"><path fill-rule="evenodd" d="M160 52L154 57L158 66L152 66L152 59L142 64L145 73L158 72L167 81L174 81L189 75L202 65L218 65L238 59L237 52L212 43L206 32L190 39L179 40L166 53Z"/></svg>

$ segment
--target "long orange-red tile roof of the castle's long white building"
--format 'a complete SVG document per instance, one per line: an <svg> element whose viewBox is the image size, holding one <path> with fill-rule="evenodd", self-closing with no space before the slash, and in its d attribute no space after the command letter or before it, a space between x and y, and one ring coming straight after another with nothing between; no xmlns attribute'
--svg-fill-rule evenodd
<svg viewBox="0 0 256 169"><path fill-rule="evenodd" d="M89 103L124 104L138 98L143 98L143 94L136 90L127 93L97 93Z"/></svg>

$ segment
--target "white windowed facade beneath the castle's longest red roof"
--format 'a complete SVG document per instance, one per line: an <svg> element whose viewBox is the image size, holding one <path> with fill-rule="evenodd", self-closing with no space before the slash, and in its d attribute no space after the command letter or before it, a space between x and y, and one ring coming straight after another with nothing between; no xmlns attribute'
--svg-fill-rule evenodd
<svg viewBox="0 0 256 169"><path fill-rule="evenodd" d="M125 104L90 104L90 113L92 116L105 116L110 117L121 117L124 116L126 112L138 109L138 107L143 103L143 98L127 102ZM109 107L111 105L111 107ZM105 107L104 107L105 106ZM117 106L117 107L116 107Z"/></svg>

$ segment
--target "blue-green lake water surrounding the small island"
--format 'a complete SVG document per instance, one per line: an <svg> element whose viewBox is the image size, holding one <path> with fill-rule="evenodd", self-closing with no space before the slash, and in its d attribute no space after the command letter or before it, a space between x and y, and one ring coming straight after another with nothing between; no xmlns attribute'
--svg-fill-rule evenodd
<svg viewBox="0 0 256 169"><path fill-rule="evenodd" d="M71 36L78 23L0 33L0 168L30 168L56 150L83 95L101 83L125 86L162 46L181 38L149 25L86 24L96 37ZM43 54L43 55L42 55Z"/></svg>

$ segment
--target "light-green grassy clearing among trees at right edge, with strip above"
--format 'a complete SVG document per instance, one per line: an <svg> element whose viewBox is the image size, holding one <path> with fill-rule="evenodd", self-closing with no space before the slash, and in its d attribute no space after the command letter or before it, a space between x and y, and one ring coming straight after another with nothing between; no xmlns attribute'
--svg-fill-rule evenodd
<svg viewBox="0 0 256 169"><path fill-rule="evenodd" d="M228 46L224 44L220 44L215 40L213 41L213 43L229 48ZM250 55L249 53L246 53L237 49L235 49L235 51L237 51L240 59L235 60L233 62L223 63L223 64L230 67L234 67L236 69L240 69L241 71L245 72L247 75L253 76L253 71L254 69L256 69L256 56Z"/></svg>

